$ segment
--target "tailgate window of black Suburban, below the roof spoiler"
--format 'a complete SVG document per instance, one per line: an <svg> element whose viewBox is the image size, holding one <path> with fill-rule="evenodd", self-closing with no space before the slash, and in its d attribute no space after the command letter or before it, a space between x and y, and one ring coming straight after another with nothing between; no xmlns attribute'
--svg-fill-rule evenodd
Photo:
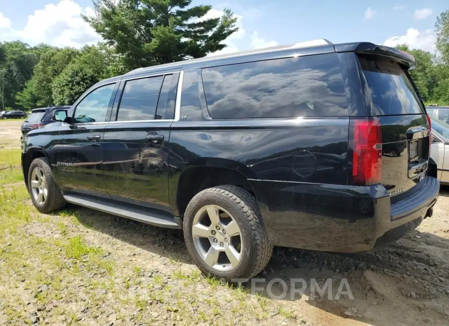
<svg viewBox="0 0 449 326"><path fill-rule="evenodd" d="M375 116L425 113L405 71L396 63L360 57L368 87L365 93Z"/></svg>

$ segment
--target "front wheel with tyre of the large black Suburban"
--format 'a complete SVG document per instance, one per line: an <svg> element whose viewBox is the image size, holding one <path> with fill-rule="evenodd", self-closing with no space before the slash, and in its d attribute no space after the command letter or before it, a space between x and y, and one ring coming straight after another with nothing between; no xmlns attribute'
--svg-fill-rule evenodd
<svg viewBox="0 0 449 326"><path fill-rule="evenodd" d="M66 204L54 182L46 158L38 158L31 162L28 170L28 190L34 207L42 213L61 209Z"/></svg>

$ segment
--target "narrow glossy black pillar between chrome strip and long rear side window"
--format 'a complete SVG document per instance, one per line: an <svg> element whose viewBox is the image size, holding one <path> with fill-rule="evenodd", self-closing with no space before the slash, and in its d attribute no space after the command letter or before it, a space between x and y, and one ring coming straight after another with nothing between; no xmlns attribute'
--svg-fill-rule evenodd
<svg viewBox="0 0 449 326"><path fill-rule="evenodd" d="M181 92L181 116L183 120L203 120L200 100L201 70L184 72ZM184 118L185 117L185 118Z"/></svg>

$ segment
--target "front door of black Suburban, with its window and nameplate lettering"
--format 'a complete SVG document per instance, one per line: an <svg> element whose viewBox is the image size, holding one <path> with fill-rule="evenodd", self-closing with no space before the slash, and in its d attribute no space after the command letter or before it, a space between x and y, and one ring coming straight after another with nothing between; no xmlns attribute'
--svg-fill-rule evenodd
<svg viewBox="0 0 449 326"><path fill-rule="evenodd" d="M50 151L54 178L65 193L107 196L102 142L116 83L99 86L75 103L73 124L58 127Z"/></svg>

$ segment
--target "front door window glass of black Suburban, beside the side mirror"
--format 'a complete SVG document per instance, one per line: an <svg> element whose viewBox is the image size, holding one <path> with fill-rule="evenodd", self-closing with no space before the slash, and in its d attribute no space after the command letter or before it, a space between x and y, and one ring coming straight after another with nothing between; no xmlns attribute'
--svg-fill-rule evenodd
<svg viewBox="0 0 449 326"><path fill-rule="evenodd" d="M115 84L97 88L78 103L75 109L76 122L106 121L106 112Z"/></svg>

